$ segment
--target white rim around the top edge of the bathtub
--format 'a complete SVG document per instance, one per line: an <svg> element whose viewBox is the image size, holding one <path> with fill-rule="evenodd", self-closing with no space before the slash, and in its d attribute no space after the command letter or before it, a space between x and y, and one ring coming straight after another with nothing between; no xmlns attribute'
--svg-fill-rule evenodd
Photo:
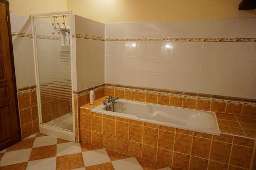
<svg viewBox="0 0 256 170"><path fill-rule="evenodd" d="M130 100L125 100L125 99L118 99L118 100L119 101L124 101L124 102L129 102L129 103L141 103L141 104L157 105L157 106L163 106L163 107L174 107L174 108L186 109L186 110L197 110L197 109L189 109L189 108L181 108L181 107L175 107L175 106L159 105L159 104L146 103L146 102L130 101ZM151 123L151 124L156 124L156 125L162 125L162 126L171 127L171 128L178 128L178 129L183 129L183 130L188 130L188 131L206 133L206 134L210 134L210 135L218 135L218 136L221 135L219 124L218 124L218 120L217 120L217 116L216 116L216 112L212 112L212 111L200 110L202 112L210 112L211 114L214 114L215 122L216 122L216 126L217 126L217 132L216 131L209 132L207 130L204 131L204 130L200 130L200 129L197 129L197 128L191 129L191 128L187 128L187 127L183 127L183 126L179 126L179 125L174 125L174 124L171 124L172 126L170 126L170 125L168 125L168 123L163 123L163 122L160 122L160 121L157 121L157 120L152 120L152 119L140 118L140 117L132 115L132 114L106 111L106 110L103 110L104 107L105 106L101 104L101 105L91 109L91 111L92 112L96 112L96 113L100 113L100 114L106 114L106 115L115 116L115 117L132 119L132 120L137 120L137 121L140 121L140 122L146 122L146 123ZM81 108L83 108L83 107L81 107ZM127 115L129 115L129 116L127 116Z"/></svg>

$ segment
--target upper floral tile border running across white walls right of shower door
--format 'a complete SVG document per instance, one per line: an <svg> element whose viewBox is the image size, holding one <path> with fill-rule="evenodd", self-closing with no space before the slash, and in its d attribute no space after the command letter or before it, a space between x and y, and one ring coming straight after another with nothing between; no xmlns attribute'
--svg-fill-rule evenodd
<svg viewBox="0 0 256 170"><path fill-rule="evenodd" d="M99 41L256 42L256 38L103 38L83 34L72 34L72 38L92 39Z"/></svg>

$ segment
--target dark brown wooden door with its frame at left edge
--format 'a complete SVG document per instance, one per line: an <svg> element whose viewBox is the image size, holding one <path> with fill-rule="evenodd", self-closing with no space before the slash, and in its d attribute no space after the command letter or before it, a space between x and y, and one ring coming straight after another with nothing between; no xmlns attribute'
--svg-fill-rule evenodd
<svg viewBox="0 0 256 170"><path fill-rule="evenodd" d="M0 0L0 151L20 140L8 1Z"/></svg>

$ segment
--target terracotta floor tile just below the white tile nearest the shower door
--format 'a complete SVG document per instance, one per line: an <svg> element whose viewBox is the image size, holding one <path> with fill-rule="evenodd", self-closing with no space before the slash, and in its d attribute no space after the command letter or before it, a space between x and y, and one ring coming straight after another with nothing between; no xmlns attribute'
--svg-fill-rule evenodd
<svg viewBox="0 0 256 170"><path fill-rule="evenodd" d="M33 148L29 160L44 159L56 156L57 145Z"/></svg>

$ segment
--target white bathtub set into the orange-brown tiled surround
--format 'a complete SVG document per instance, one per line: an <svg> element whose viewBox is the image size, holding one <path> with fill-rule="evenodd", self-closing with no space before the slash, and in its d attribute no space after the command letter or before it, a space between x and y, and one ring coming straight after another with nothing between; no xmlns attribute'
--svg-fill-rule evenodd
<svg viewBox="0 0 256 170"><path fill-rule="evenodd" d="M99 105L92 109L92 111L152 124L220 135L215 112L133 102L122 99L116 101L115 112L106 111L104 105Z"/></svg>

